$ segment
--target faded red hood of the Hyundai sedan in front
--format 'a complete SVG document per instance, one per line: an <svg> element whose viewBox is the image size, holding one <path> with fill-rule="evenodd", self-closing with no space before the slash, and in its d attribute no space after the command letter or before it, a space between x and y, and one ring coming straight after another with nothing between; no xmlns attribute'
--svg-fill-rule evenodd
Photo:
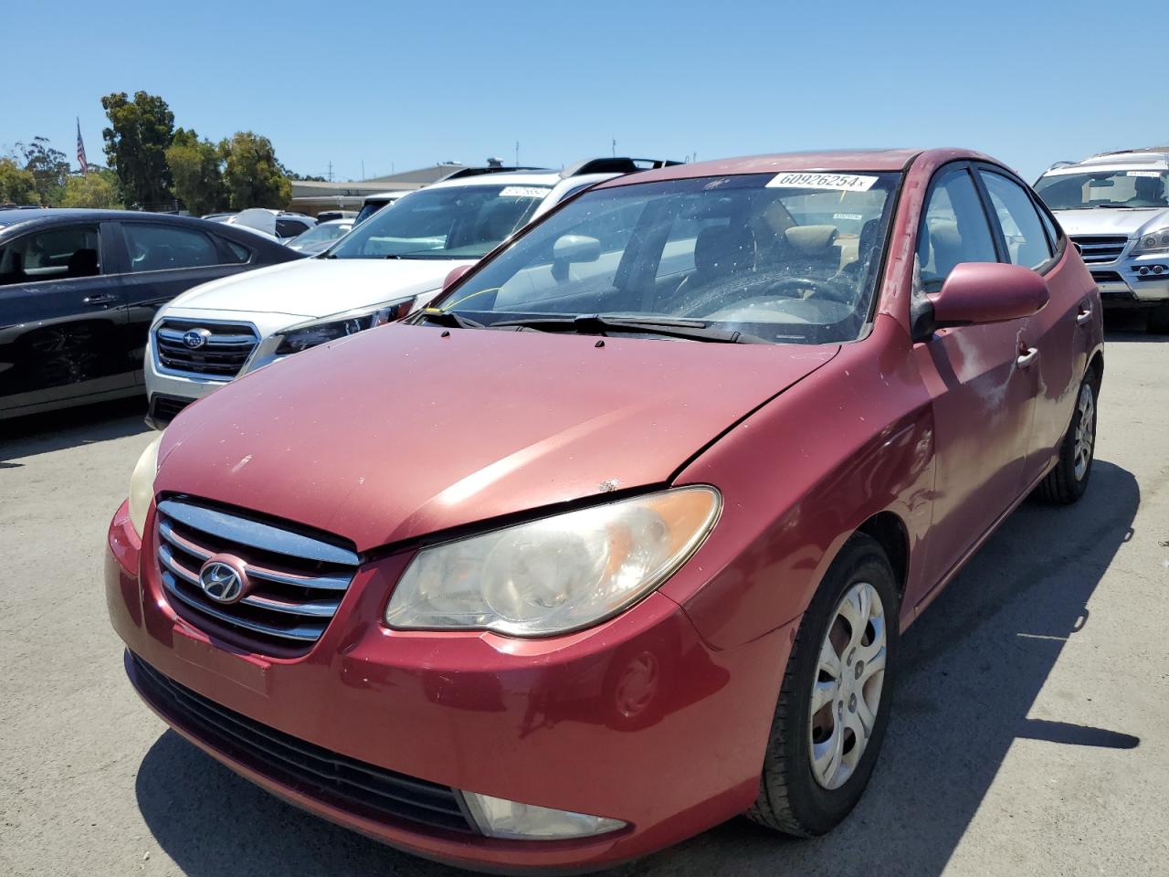
<svg viewBox="0 0 1169 877"><path fill-rule="evenodd" d="M189 406L166 430L155 490L366 551L666 483L838 351L392 324Z"/></svg>

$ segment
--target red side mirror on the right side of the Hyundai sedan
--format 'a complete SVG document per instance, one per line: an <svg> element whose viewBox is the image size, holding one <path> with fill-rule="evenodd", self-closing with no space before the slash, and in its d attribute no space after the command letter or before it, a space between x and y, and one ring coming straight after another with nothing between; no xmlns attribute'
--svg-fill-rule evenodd
<svg viewBox="0 0 1169 877"><path fill-rule="evenodd" d="M926 296L933 313L922 315L928 324L922 330L1030 317L1043 310L1050 297L1047 282L1030 268L962 262L949 272L939 292Z"/></svg>

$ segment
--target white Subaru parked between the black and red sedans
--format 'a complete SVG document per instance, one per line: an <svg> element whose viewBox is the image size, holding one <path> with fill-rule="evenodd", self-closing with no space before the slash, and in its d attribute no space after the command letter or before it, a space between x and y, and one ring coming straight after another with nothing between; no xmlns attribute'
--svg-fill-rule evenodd
<svg viewBox="0 0 1169 877"><path fill-rule="evenodd" d="M404 317L569 195L677 164L601 158L562 171L491 173L411 192L313 258L201 286L162 308L146 346L147 422L161 428L231 379L307 347Z"/></svg>

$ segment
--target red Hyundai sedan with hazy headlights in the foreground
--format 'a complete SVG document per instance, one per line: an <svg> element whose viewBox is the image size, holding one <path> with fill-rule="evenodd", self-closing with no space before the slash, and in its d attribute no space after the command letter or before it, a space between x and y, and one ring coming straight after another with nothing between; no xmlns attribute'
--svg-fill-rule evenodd
<svg viewBox="0 0 1169 877"><path fill-rule="evenodd" d="M1025 497L1082 495L1101 337L985 156L602 184L174 421L110 527L126 670L244 776L451 863L822 834L901 631Z"/></svg>

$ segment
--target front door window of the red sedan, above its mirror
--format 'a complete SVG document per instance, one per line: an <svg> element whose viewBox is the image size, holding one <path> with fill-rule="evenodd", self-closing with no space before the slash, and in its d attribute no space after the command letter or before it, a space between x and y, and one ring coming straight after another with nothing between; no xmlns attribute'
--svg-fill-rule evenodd
<svg viewBox="0 0 1169 877"><path fill-rule="evenodd" d="M918 228L922 286L927 292L938 291L961 262L997 261L987 214L970 173L964 167L943 168L934 178Z"/></svg>

